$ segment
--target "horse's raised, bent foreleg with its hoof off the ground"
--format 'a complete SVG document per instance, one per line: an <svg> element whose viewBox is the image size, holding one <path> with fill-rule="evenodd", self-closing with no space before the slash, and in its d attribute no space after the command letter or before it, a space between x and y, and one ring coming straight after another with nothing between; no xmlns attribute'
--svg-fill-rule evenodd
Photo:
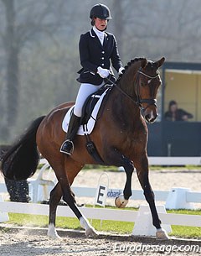
<svg viewBox="0 0 201 256"><path fill-rule="evenodd" d="M126 172L126 184L124 186L123 195L116 197L116 206L123 208L128 203L128 199L131 196L131 176L134 170L134 165L130 159L124 154L121 154L117 149L111 151L109 158L107 157L107 164L123 166Z"/></svg>

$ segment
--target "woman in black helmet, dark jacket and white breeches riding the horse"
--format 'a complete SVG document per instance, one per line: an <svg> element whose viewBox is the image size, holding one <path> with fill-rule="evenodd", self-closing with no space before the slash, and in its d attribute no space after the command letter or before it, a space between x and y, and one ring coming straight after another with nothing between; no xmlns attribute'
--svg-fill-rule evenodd
<svg viewBox="0 0 201 256"><path fill-rule="evenodd" d="M90 10L90 18L93 28L80 36L80 63L83 68L78 71L80 74L78 81L81 86L65 141L60 148L60 152L64 154L73 153L73 140L80 127L82 107L86 98L104 85L104 78L107 76L110 76L111 81L115 81L110 60L119 74L123 70L116 39L113 34L105 32L107 23L111 19L110 9L104 4L95 4Z"/></svg>

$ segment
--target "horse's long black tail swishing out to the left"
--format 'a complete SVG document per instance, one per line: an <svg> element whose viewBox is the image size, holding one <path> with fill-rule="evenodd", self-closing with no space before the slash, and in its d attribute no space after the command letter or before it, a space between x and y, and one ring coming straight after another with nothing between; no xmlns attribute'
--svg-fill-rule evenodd
<svg viewBox="0 0 201 256"><path fill-rule="evenodd" d="M26 180L35 173L39 164L36 133L44 117L35 119L21 138L3 154L0 169L9 180Z"/></svg>

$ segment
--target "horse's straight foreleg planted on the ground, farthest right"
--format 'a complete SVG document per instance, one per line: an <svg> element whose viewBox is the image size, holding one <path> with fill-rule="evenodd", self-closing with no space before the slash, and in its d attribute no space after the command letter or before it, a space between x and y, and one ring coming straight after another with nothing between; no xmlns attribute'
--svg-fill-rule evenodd
<svg viewBox="0 0 201 256"><path fill-rule="evenodd" d="M152 191L152 186L150 185L148 178L148 159L147 155L142 159L137 159L137 163L135 163L137 168L137 176L142 185L142 189L144 191L144 196L147 200L147 203L150 207L152 213L152 223L153 226L157 228L157 238L168 239L168 234L161 227L161 220L157 214L157 207L155 204L154 193Z"/></svg>

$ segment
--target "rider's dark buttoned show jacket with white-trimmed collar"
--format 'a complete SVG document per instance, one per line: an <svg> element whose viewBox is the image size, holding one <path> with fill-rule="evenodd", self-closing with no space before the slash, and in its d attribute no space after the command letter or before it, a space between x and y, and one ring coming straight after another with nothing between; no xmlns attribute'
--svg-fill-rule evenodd
<svg viewBox="0 0 201 256"><path fill-rule="evenodd" d="M80 35L79 50L80 64L83 68L78 71L80 77L77 81L100 85L103 79L97 74L99 66L110 70L112 74L110 79L114 81L115 76L111 69L111 64L118 72L122 63L117 49L116 38L113 34L105 33L102 45L94 30L91 29L89 32Z"/></svg>

